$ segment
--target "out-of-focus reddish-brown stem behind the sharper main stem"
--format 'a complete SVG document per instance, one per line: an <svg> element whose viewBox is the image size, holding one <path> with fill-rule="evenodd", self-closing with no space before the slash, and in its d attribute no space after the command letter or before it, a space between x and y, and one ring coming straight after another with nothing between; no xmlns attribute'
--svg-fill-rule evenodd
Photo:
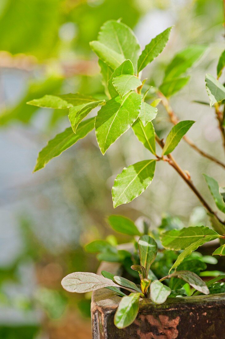
<svg viewBox="0 0 225 339"><path fill-rule="evenodd" d="M170 103L168 102L168 99L161 92L158 92L158 96L159 96L159 98L162 99L162 104L165 107L166 112L168 113L168 116L170 117L170 121L174 125L178 124L179 119L176 116L176 114L174 113L174 111L172 110ZM223 129L223 127L222 127L222 129ZM224 132L224 129L223 129L223 132ZM225 138L225 134L224 134L224 138ZM211 156L210 154L202 151L202 149L200 149L191 139L189 139L186 136L184 136L183 139L186 141L186 143L188 143L189 146L191 146L196 152L201 154L203 157L205 157L205 158L217 163L218 165L222 166L223 168L225 168L225 164L222 161L220 161L220 160L216 159L215 157ZM225 139L224 139L224 142L225 142Z"/></svg>

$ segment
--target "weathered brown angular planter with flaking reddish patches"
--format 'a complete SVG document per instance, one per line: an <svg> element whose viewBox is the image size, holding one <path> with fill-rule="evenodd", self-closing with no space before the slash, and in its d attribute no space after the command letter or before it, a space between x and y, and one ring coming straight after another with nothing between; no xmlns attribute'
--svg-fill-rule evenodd
<svg viewBox="0 0 225 339"><path fill-rule="evenodd" d="M121 274L117 263L103 262L97 273L103 270ZM123 329L113 322L120 300L106 288L93 292L93 339L225 339L225 294L168 298L161 305L143 299L136 320Z"/></svg>

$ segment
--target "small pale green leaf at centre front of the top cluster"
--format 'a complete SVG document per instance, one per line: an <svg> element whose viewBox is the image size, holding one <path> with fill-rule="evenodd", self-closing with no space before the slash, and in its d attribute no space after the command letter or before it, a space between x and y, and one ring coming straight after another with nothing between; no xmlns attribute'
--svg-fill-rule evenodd
<svg viewBox="0 0 225 339"><path fill-rule="evenodd" d="M113 78L113 86L121 97L130 92L132 89L135 89L142 85L140 79L135 75L122 74L116 78Z"/></svg>

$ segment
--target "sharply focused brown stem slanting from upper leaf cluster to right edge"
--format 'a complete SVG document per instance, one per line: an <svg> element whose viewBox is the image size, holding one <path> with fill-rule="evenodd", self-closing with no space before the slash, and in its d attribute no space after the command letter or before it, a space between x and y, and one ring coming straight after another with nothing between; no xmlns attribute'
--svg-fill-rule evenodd
<svg viewBox="0 0 225 339"><path fill-rule="evenodd" d="M164 142L156 135L156 141L160 145L161 148L164 146ZM213 215L216 220L221 224L221 233L225 232L225 222L222 221L218 216L217 213L214 212L209 204L205 201L205 199L202 197L200 192L197 190L195 185L193 184L192 180L190 180L189 174L185 173L182 168L178 165L178 163L175 161L174 157L171 154L168 154L167 160L163 158L162 160L167 161L174 169L177 171L177 173L181 176L181 178L186 182L186 184L190 187L190 189L195 193L195 195L198 197L202 205L206 208L209 214Z"/></svg>

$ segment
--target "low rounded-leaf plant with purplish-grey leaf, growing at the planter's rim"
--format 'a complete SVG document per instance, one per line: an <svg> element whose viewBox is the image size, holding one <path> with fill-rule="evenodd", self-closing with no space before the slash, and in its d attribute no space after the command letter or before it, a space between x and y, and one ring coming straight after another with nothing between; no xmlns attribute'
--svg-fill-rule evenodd
<svg viewBox="0 0 225 339"><path fill-rule="evenodd" d="M189 260L185 260L185 257L181 260L180 255L175 252L162 250L160 242L161 249L158 251L155 239L149 234L143 234L132 220L123 216L112 215L108 222L114 231L133 236L132 245L127 250L122 250L115 246L115 241L112 244L112 241L110 243L107 240L95 240L87 244L85 249L90 253L98 253L97 258L99 260L123 263L123 267L132 276L132 281L107 271L102 271L101 276L88 272L75 272L63 278L62 286L66 291L76 293L86 293L99 288L108 288L113 291L114 295L121 297L114 316L114 323L118 328L127 327L135 320L142 299L149 298L152 302L161 304L167 298L187 296L187 290L189 290L189 295L225 292L224 283L218 282L224 279L225 275L221 274L206 283L198 276L200 271L205 270L206 262L213 263L210 260L211 257L204 257L200 253L194 252L195 256L192 255ZM182 228L180 238L182 238L183 230ZM206 234L206 236L216 237L214 231L204 226L190 227L189 231L190 239L179 240L183 244L187 241L184 246L193 242L194 237L197 237L197 241L201 241ZM148 232L146 227L145 232ZM161 236L162 242L176 244L178 242L176 235L170 239L168 233L164 232ZM194 241L196 241L196 238ZM173 246L177 248L176 245ZM177 262L178 258L179 263ZM176 260L176 263L170 271L178 265L179 268L177 271L168 274L168 263L170 264L174 260ZM128 267L129 264L130 267ZM214 272L206 271L202 273L211 276L214 274ZM126 294L121 290L124 290Z"/></svg>

